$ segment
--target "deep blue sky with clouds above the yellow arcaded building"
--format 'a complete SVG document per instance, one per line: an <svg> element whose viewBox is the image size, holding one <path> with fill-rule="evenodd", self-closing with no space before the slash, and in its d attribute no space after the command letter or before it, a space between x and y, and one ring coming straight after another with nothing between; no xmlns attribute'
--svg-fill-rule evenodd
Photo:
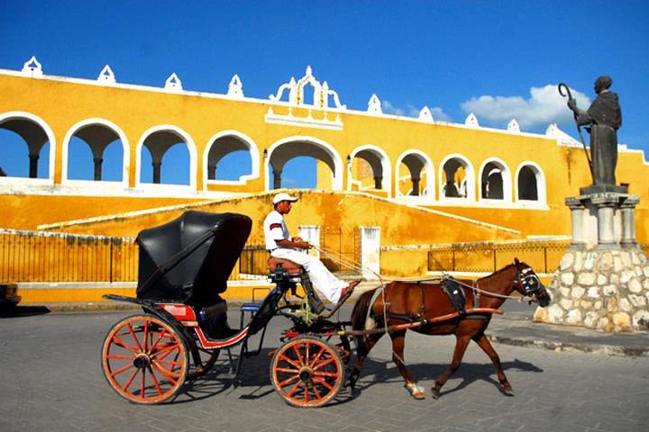
<svg viewBox="0 0 649 432"><path fill-rule="evenodd" d="M2 0L0 8L0 68L36 56L45 74L95 79L108 64L118 82L163 86L176 72L187 90L221 94L238 74L247 96L267 98L311 65L352 109L365 110L375 93L384 112L415 115L427 105L438 120L475 112L481 125L504 129L514 117L533 132L558 122L575 138L556 85L592 99L606 74L622 103L618 141L649 158L646 1ZM8 133L0 142L12 141ZM0 166L24 170L12 146ZM237 175L240 164L230 165ZM285 185L309 186L312 175L295 179L312 165L285 168Z"/></svg>

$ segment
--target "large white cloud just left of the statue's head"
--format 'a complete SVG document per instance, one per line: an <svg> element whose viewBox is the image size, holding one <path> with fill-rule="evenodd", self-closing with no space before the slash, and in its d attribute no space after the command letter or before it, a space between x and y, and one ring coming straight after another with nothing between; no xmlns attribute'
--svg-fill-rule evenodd
<svg viewBox="0 0 649 432"><path fill-rule="evenodd" d="M577 99L577 105L585 110L590 105L590 98L577 90L571 89L572 97ZM557 85L548 84L544 87L532 87L528 99L522 96L490 96L473 97L462 103L464 112L473 112L480 124L491 123L504 127L511 119L516 119L521 130L544 129L550 123L570 124L572 112L566 106L568 99L562 97Z"/></svg>

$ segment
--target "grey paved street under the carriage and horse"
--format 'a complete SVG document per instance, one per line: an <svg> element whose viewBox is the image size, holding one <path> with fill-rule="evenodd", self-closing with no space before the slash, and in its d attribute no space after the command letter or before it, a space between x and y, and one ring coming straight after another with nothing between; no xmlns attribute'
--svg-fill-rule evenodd
<svg viewBox="0 0 649 432"><path fill-rule="evenodd" d="M527 319L533 310L527 309ZM38 311L35 311L38 312ZM231 319L238 320L231 311ZM649 422L649 357L494 346L516 396L498 390L493 366L473 345L434 401L452 337L409 333L406 362L425 401L404 389L388 338L371 352L359 390L320 409L288 406L273 391L268 352L288 320L271 321L264 350L236 386L217 374L159 406L121 399L105 382L105 333L133 311L17 314L0 319L0 430L11 431L640 431ZM346 317L343 317L346 318ZM498 334L535 326L495 317ZM218 371L218 368L216 368Z"/></svg>

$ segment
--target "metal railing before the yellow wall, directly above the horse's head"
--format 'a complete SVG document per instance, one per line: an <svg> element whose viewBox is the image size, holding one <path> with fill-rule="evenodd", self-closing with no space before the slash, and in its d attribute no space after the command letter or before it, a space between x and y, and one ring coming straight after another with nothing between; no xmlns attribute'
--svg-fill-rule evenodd
<svg viewBox="0 0 649 432"><path fill-rule="evenodd" d="M431 247L428 251L428 270L491 273L518 258L534 267L537 273L552 273L559 266L569 245L569 240L555 240L499 244L459 243Z"/></svg>

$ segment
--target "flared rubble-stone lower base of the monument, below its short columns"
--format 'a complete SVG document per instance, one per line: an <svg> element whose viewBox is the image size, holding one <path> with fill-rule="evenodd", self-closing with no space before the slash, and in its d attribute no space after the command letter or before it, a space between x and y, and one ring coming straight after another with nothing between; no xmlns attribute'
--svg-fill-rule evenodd
<svg viewBox="0 0 649 432"><path fill-rule="evenodd" d="M605 331L649 329L649 260L639 247L569 248L534 320Z"/></svg>

